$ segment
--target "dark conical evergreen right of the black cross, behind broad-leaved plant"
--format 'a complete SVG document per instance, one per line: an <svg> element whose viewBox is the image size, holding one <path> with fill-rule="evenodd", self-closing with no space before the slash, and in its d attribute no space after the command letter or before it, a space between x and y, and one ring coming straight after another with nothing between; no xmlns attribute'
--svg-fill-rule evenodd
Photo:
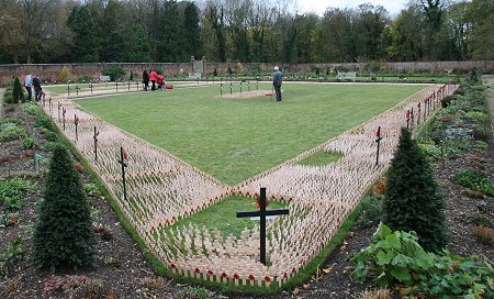
<svg viewBox="0 0 494 299"><path fill-rule="evenodd" d="M384 223L393 231L415 231L427 251L446 246L445 200L425 155L404 128L388 173L383 208Z"/></svg>

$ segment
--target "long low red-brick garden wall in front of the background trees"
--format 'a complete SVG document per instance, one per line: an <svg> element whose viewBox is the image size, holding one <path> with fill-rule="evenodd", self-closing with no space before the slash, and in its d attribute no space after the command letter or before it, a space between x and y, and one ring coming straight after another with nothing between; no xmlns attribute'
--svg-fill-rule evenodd
<svg viewBox="0 0 494 299"><path fill-rule="evenodd" d="M0 84L4 85L12 76L23 77L31 73L38 75L43 81L59 81L59 73L64 66L70 69L72 79L77 76L89 75L93 78L99 78L101 70L111 64L22 64L22 65L0 65ZM133 71L141 76L144 69L160 69L166 75L188 75L193 71L192 63L125 63L119 64L127 71ZM259 64L259 63L206 63L205 73L212 74L214 69L218 76L228 74L228 68L233 71L250 74L270 71L276 64ZM327 68L343 69L343 70L363 70L367 63L353 64L279 64L283 69L291 71L310 71L315 67L321 70ZM444 71L446 69L453 70L470 70L479 68L486 71L494 69L494 60L487 62L413 62L413 63L381 63L381 67L392 71L417 71L417 70L436 70Z"/></svg>

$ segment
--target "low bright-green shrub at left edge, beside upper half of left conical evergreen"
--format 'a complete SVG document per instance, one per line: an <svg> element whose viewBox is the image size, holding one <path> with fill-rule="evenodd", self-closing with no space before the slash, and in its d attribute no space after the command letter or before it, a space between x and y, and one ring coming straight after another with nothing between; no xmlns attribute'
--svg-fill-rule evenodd
<svg viewBox="0 0 494 299"><path fill-rule="evenodd" d="M20 210L24 206L23 199L35 191L30 180L12 178L0 181L0 206L5 211Z"/></svg>

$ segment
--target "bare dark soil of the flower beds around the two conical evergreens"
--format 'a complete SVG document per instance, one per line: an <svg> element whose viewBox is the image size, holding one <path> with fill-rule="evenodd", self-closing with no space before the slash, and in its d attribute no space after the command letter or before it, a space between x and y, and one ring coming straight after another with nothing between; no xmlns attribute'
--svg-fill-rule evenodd
<svg viewBox="0 0 494 299"><path fill-rule="evenodd" d="M0 93L0 98L1 98ZM494 101L494 99L492 99ZM34 129L33 117L19 107L3 106L0 118L20 118L24 120L30 136L41 146L45 140L40 130ZM485 255L494 259L492 244L482 244L473 235L475 224L472 217L481 214L494 220L494 206L491 198L469 198L463 188L451 181L450 176L459 169L480 169L494 174L494 145L491 140L485 156L464 155L450 159L447 165L436 168L437 180L448 201L448 224L450 243L448 248L454 254ZM49 152L36 152L49 157ZM13 176L31 178L37 184L37 192L25 199L24 208L19 212L18 222L7 228L0 228L0 253L19 235L24 236L26 254L21 263L5 275L0 276L0 298L200 298L187 296L190 286L176 284L171 278L161 278L153 273L150 264L144 258L136 242L120 224L116 213L101 196L89 198L93 210L98 210L96 223L102 224L110 233L98 241L98 267L90 272L78 273L81 280L66 279L64 287L52 292L44 290L45 283L54 278L47 272L37 269L31 257L32 233L38 213L36 202L43 196L44 174L47 164L42 164L40 173L34 171L34 152L22 150L22 141L0 143L0 177ZM76 158L75 158L76 162ZM90 176L81 171L83 182L90 182ZM306 281L296 289L281 292L272 298L358 298L366 289L372 289L371 283L358 283L350 278L352 270L348 256L367 246L375 228L355 228L349 236L335 250L327 262L321 265L322 278ZM1 273L0 273L1 274ZM76 275L76 273L69 273ZM59 279L66 277L58 274ZM74 278L74 277L72 277ZM56 279L56 278L55 278ZM314 279L315 280L315 279ZM75 283L76 281L76 283ZM193 287L194 290L200 287ZM205 291L207 297L201 298L239 298L225 296L214 291ZM246 298L246 297L244 297Z"/></svg>

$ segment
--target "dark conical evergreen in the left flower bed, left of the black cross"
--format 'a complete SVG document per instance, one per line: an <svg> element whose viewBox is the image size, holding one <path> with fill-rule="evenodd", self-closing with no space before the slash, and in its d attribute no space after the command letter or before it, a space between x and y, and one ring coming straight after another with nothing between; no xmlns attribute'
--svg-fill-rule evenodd
<svg viewBox="0 0 494 299"><path fill-rule="evenodd" d="M94 266L96 236L90 209L67 150L53 151L33 240L35 263L55 272Z"/></svg>

